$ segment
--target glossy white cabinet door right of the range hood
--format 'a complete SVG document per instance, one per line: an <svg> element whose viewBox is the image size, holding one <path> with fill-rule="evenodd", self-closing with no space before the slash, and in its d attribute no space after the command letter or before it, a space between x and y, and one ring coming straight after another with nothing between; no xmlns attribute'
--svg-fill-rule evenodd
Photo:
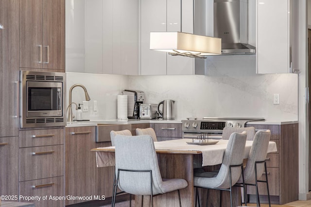
<svg viewBox="0 0 311 207"><path fill-rule="evenodd" d="M257 73L288 73L288 0L258 0Z"/></svg>

